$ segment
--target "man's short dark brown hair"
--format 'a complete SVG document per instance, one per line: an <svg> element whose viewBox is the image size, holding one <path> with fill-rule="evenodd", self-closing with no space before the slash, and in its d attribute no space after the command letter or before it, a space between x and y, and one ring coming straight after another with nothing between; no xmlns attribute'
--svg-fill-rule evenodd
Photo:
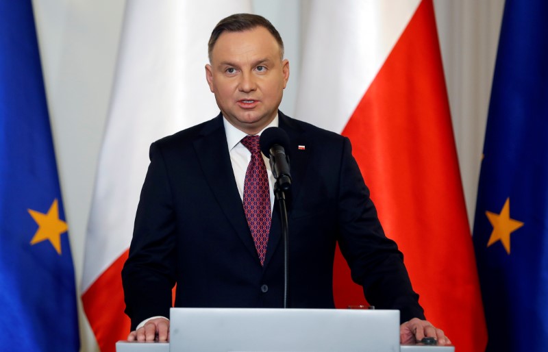
<svg viewBox="0 0 548 352"><path fill-rule="evenodd" d="M266 28L275 38L279 45L280 56L284 58L284 41L279 35L277 29L270 23L269 20L258 14L232 14L223 18L211 32L210 41L208 42L208 56L211 62L211 52L219 36L223 32L245 32L256 27Z"/></svg>

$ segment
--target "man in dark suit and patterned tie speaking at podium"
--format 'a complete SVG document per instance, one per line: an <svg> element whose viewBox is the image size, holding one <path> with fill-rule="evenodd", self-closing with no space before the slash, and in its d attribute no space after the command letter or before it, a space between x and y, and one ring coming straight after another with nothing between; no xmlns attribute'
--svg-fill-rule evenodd
<svg viewBox="0 0 548 352"><path fill-rule="evenodd" d="M282 307L275 180L253 137L279 126L290 138L289 306L334 307L338 242L366 299L400 310L402 343L425 336L450 343L423 320L402 255L384 236L349 140L279 112L289 63L273 25L261 16L229 16L213 30L209 56L206 79L221 114L151 145L122 273L134 330L128 340L169 339L166 317L175 283L177 307Z"/></svg>

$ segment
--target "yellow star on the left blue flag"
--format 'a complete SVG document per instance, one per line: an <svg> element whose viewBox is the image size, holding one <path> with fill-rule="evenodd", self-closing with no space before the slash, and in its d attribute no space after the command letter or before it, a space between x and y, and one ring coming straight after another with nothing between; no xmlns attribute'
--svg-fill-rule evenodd
<svg viewBox="0 0 548 352"><path fill-rule="evenodd" d="M36 212L29 209L29 214L38 224L38 230L30 241L30 244L36 244L45 240L49 240L55 251L61 255L61 234L66 232L68 227L66 223L59 218L59 206L57 199L53 201L47 214Z"/></svg>

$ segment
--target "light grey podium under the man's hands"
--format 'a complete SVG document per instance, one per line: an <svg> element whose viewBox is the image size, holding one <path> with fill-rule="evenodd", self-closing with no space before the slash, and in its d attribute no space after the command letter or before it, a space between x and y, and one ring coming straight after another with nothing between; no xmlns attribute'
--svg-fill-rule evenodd
<svg viewBox="0 0 548 352"><path fill-rule="evenodd" d="M118 342L117 352L454 352L399 344L397 310L172 308L170 342Z"/></svg>

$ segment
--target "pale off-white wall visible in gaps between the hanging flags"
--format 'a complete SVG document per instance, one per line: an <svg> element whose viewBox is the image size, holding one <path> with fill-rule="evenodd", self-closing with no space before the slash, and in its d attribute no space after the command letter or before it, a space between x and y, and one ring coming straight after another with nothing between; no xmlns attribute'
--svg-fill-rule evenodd
<svg viewBox="0 0 548 352"><path fill-rule="evenodd" d="M292 63L290 84L281 106L290 116L299 84L300 18L307 1L254 1L255 12L279 29ZM125 0L33 3L79 288ZM434 4L466 205L472 216L503 0L435 0ZM95 351L87 320L82 310L79 312L82 351Z"/></svg>

